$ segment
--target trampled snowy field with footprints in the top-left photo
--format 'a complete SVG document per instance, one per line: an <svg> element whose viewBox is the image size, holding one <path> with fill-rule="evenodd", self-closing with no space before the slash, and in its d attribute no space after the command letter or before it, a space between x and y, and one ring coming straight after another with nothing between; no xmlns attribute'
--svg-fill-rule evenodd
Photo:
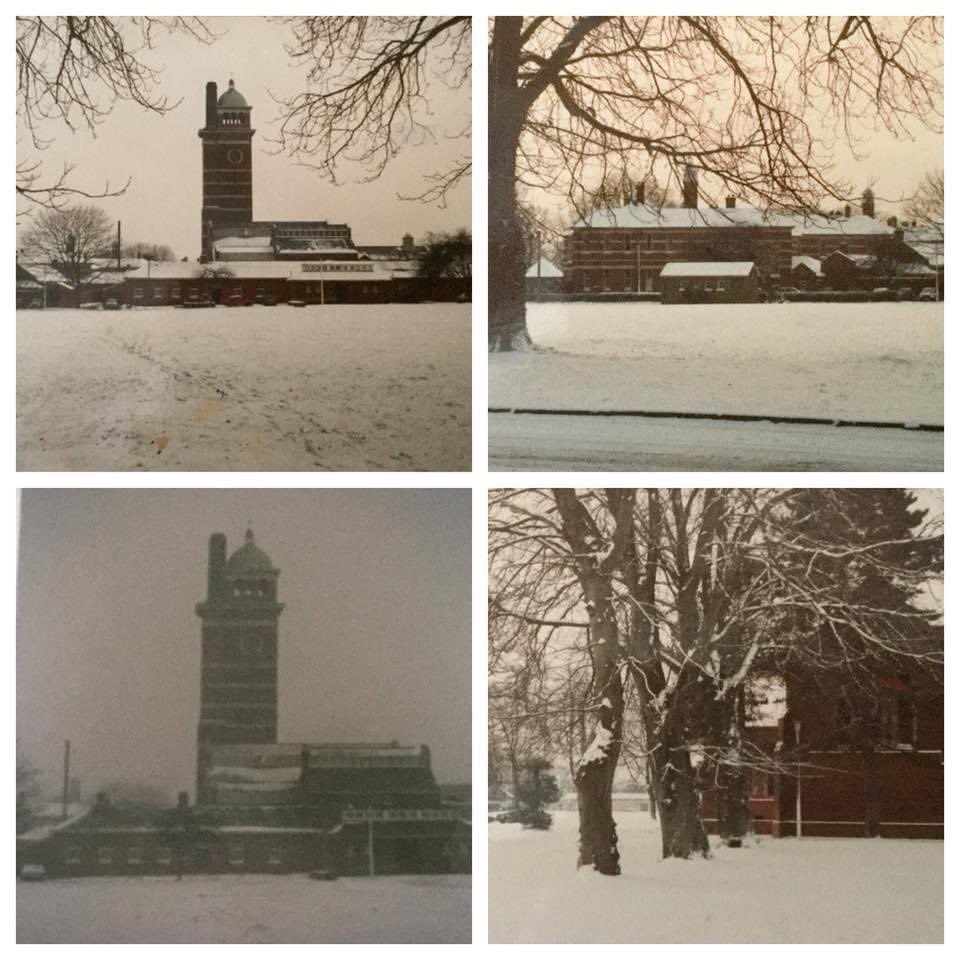
<svg viewBox="0 0 960 960"><path fill-rule="evenodd" d="M20 470L469 470L470 305L17 313Z"/></svg>

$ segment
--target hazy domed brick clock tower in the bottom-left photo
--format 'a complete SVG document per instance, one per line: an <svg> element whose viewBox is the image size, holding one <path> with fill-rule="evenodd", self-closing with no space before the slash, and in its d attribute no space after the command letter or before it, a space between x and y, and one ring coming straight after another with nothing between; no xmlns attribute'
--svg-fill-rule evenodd
<svg viewBox="0 0 960 960"><path fill-rule="evenodd" d="M280 573L247 530L227 556L227 538L210 537L207 598L201 620L198 802L203 802L206 748L277 742L277 636L283 604Z"/></svg>

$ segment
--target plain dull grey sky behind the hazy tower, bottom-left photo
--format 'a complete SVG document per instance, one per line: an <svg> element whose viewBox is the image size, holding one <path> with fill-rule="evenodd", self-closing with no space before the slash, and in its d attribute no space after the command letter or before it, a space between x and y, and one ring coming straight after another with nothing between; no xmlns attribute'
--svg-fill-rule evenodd
<svg viewBox="0 0 960 960"><path fill-rule="evenodd" d="M207 541L280 569L279 739L426 743L470 779L466 490L29 490L21 504L17 733L57 789L194 792Z"/></svg>

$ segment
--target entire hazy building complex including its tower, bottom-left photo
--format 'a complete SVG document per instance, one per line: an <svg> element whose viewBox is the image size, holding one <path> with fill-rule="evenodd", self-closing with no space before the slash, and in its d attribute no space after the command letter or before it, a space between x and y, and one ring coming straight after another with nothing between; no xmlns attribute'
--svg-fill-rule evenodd
<svg viewBox="0 0 960 960"><path fill-rule="evenodd" d="M112 805L20 838L21 862L88 874L461 873L469 790L445 799L425 746L277 742L279 571L247 531L209 544L195 807Z"/></svg>

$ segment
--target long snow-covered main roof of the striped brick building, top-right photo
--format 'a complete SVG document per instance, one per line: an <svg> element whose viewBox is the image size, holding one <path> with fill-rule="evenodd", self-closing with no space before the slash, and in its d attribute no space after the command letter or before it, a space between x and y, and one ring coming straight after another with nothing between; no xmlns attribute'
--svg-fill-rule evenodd
<svg viewBox="0 0 960 960"><path fill-rule="evenodd" d="M794 236L892 234L893 227L872 217L824 217L820 214L787 214L756 207L657 207L631 203L609 210L595 210L574 224L578 227L789 227Z"/></svg>

